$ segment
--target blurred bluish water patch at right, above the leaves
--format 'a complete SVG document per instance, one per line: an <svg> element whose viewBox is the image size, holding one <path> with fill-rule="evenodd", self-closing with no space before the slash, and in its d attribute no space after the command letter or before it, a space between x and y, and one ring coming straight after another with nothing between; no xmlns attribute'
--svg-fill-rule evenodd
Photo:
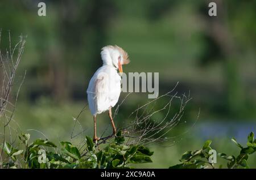
<svg viewBox="0 0 256 180"><path fill-rule="evenodd" d="M247 135L251 131L256 132L256 121L207 121L198 123L195 131L196 135L204 140L226 137L236 138L238 142L246 143Z"/></svg>

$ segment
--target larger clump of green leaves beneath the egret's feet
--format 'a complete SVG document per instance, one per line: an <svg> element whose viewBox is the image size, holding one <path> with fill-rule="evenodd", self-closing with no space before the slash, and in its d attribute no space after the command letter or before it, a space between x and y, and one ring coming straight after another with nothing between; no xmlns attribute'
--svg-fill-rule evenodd
<svg viewBox="0 0 256 180"><path fill-rule="evenodd" d="M24 168L40 169L131 168L131 164L152 162L150 156L153 152L143 145L125 144L121 131L112 143L101 150L89 136L86 136L86 148L82 151L71 142L60 142L60 148L57 148L54 143L43 139L36 139L30 143L29 134L22 134L19 139L24 150L15 149L5 142L3 150L10 158L8 162L3 163L4 168L18 168L22 165Z"/></svg>

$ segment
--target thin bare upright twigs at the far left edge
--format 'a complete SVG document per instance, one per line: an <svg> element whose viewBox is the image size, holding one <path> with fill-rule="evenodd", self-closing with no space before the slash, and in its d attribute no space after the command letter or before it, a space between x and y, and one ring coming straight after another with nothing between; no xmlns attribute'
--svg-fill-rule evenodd
<svg viewBox="0 0 256 180"><path fill-rule="evenodd" d="M2 37L2 31L0 30L0 42L1 42L1 37ZM16 43L16 45L14 46L14 49L12 49L11 33L9 31L9 50L6 49L6 54L2 54L3 51L0 49L0 82L2 86L0 88L0 91L1 91L0 121L3 121L2 144L4 144L6 140L6 128L8 128L9 130L11 144L14 143L16 140L16 136L15 138L13 138L13 135L12 135L13 128L10 126L10 122L14 121L13 117L14 117L16 104L18 101L19 91L26 77L26 72L24 73L23 79L20 82L18 90L16 92L15 103L12 104L9 98L13 90L14 78L16 75L18 65L22 58L25 43L26 41L24 40L24 37L20 36L19 42ZM2 156L2 153L3 153L3 147L2 147L1 156Z"/></svg>

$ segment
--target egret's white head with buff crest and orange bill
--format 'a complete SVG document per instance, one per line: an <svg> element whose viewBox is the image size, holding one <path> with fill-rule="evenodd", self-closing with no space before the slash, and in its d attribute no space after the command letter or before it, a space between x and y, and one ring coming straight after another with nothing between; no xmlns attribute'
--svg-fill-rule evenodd
<svg viewBox="0 0 256 180"><path fill-rule="evenodd" d="M123 72L122 65L127 65L130 62L127 52L117 45L102 48L101 58L104 65L118 68L121 74Z"/></svg>

